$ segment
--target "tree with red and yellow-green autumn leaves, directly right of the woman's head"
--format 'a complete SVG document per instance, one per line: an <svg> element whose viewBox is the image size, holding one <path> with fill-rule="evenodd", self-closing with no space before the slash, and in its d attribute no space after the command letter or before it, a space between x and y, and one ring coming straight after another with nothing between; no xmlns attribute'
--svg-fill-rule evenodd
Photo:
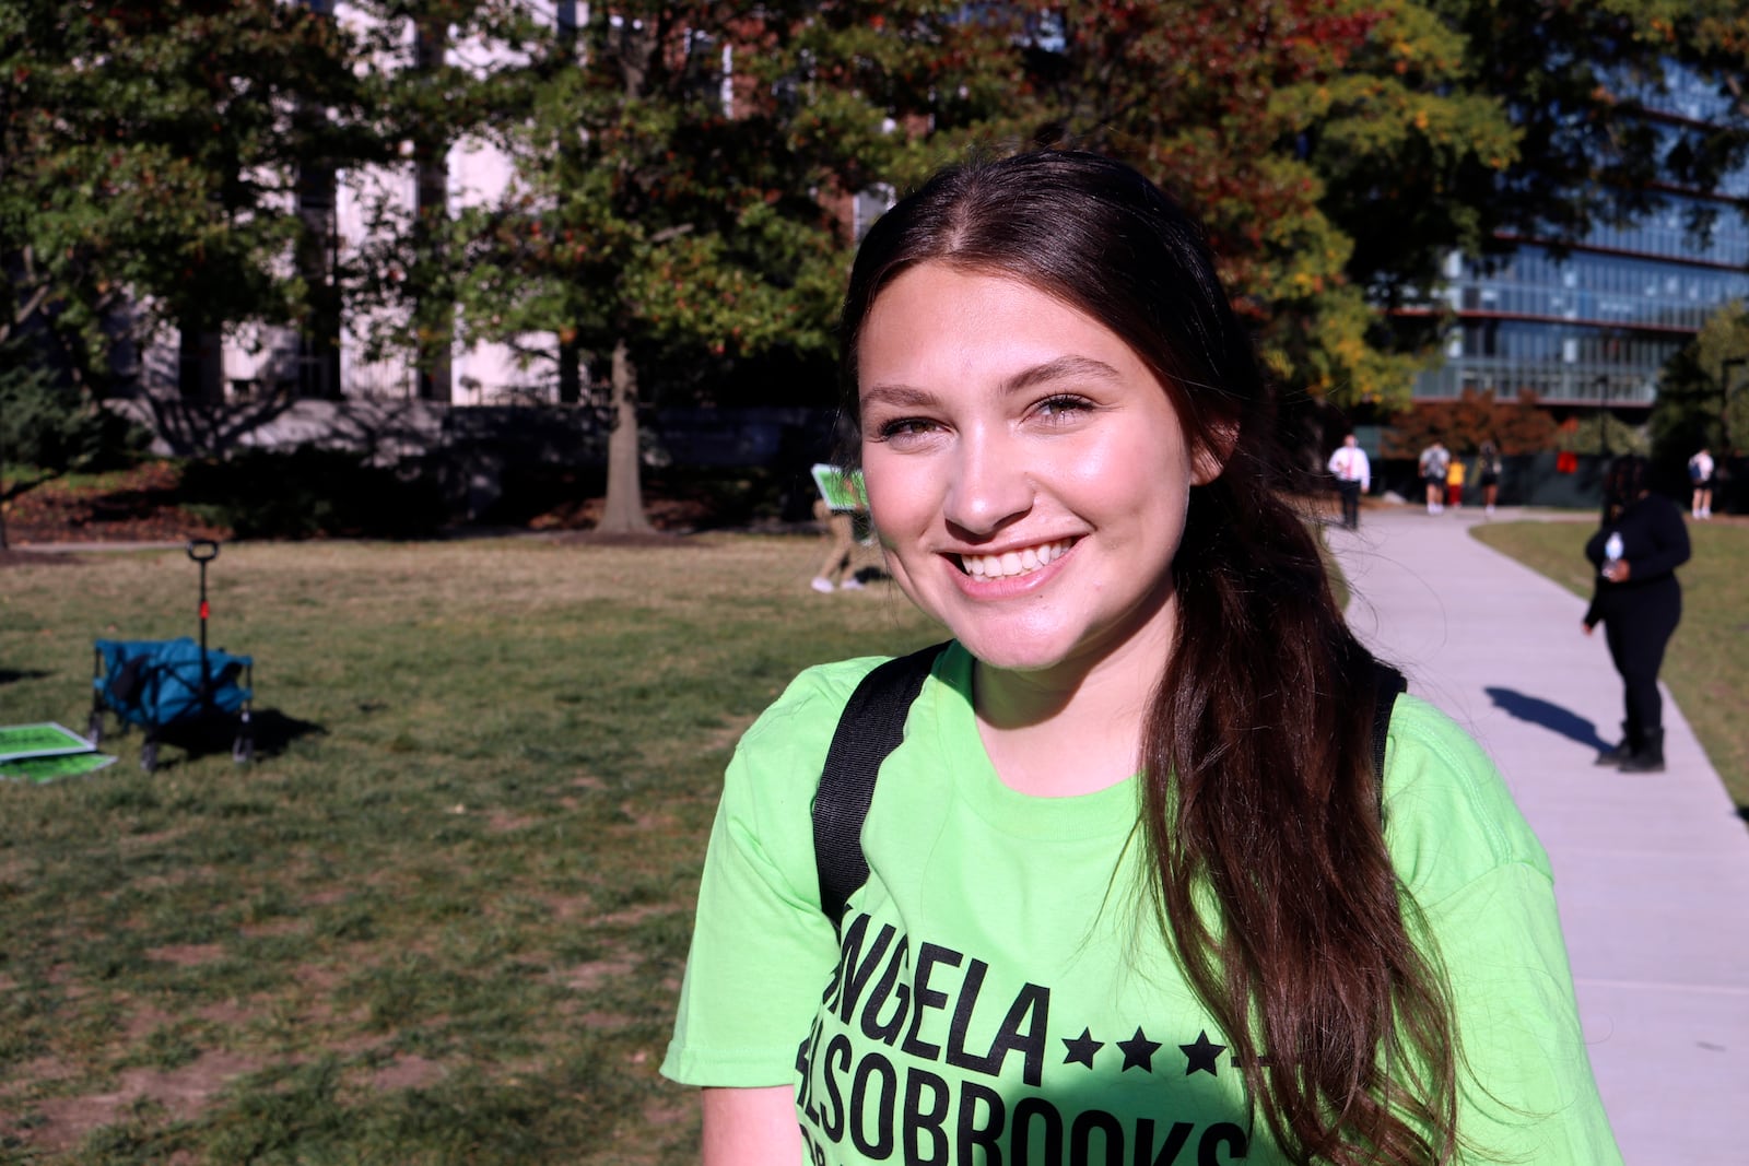
<svg viewBox="0 0 1749 1166"><path fill-rule="evenodd" d="M1289 388L1403 404L1418 362L1385 330L1375 285L1431 285L1446 250L1476 243L1476 224L1438 199L1389 215L1375 201L1375 219L1406 231L1362 255L1343 212L1382 175L1418 170L1438 185L1516 157L1504 112L1457 93L1459 38L1394 0L1091 0L1062 12L1062 52L1037 58L1041 107L1062 136L1128 157L1191 205Z"/></svg>

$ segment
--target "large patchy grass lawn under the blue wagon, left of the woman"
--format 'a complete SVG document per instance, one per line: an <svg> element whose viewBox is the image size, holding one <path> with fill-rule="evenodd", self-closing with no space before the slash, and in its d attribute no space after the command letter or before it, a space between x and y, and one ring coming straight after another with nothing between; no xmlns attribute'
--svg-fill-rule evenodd
<svg viewBox="0 0 1749 1166"><path fill-rule="evenodd" d="M934 638L819 552L226 545L257 760L0 781L0 1161L696 1161L656 1066L729 750L803 666ZM196 584L0 568L0 724L82 729L91 642L196 635Z"/></svg>

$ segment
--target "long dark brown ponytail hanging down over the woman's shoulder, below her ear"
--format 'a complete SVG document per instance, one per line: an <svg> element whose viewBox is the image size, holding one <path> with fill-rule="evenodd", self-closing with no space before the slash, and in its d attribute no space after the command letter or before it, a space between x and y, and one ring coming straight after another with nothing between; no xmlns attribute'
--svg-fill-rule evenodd
<svg viewBox="0 0 1749 1166"><path fill-rule="evenodd" d="M1301 516L1237 462L1193 493L1144 743L1165 932L1291 1161L1445 1161L1450 1007L1385 851L1373 657Z"/></svg>

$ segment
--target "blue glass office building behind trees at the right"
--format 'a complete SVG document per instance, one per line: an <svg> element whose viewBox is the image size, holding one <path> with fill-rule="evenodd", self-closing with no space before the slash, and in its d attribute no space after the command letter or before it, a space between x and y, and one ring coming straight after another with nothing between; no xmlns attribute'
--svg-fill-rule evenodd
<svg viewBox="0 0 1749 1166"><path fill-rule="evenodd" d="M1705 128L1723 101L1679 75L1642 108L1662 135L1677 135ZM1513 253L1492 267L1453 255L1446 299L1457 323L1445 364L1420 374L1415 397L1492 390L1513 400L1529 390L1555 407L1649 407L1665 360L1723 304L1749 299L1749 224L1733 205L1746 196L1749 171L1719 191L1669 191L1658 212L1599 224L1565 259L1537 239L1511 239ZM1709 238L1688 231L1697 206L1716 215Z"/></svg>

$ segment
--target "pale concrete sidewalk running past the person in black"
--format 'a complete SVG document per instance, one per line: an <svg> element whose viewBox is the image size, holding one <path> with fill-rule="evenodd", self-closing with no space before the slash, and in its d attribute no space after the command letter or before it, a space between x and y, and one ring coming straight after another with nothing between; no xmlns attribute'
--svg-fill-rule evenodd
<svg viewBox="0 0 1749 1166"><path fill-rule="evenodd" d="M1749 1163L1749 830L1669 692L1669 773L1592 764L1621 720L1604 636L1581 633L1583 600L1473 538L1476 521L1392 507L1333 526L1348 622L1481 741L1548 848L1628 1166Z"/></svg>

